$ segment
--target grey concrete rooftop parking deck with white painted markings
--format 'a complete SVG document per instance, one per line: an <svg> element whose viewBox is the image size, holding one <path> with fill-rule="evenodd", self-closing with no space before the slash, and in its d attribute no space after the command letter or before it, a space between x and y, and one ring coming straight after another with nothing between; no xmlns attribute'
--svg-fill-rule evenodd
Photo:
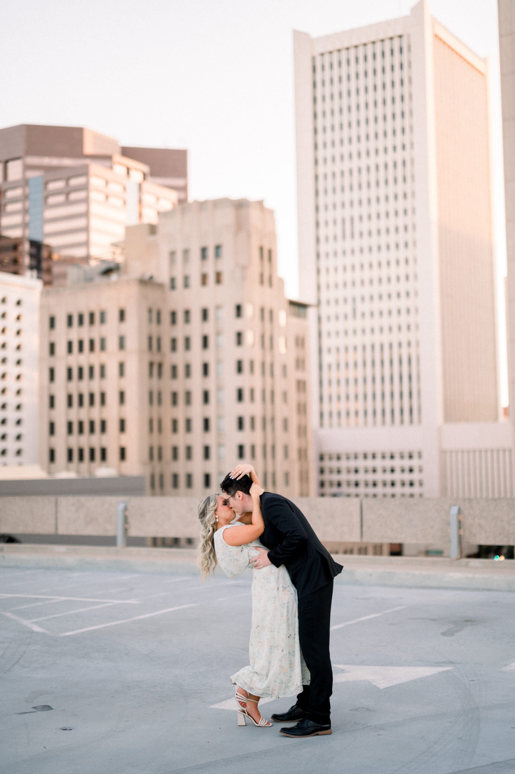
<svg viewBox="0 0 515 774"><path fill-rule="evenodd" d="M250 574L203 586L185 564L4 567L0 770L513 774L514 602L336 584L333 735L297 741L237 727L229 675L248 663Z"/></svg>

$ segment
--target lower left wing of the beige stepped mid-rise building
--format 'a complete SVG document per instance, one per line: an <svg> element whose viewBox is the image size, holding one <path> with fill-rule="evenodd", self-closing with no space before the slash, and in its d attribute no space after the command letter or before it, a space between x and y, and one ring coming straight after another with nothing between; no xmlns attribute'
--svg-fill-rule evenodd
<svg viewBox="0 0 515 774"><path fill-rule="evenodd" d="M111 467L163 491L164 310L165 287L151 279L98 276L43 290L39 463L49 474Z"/></svg>

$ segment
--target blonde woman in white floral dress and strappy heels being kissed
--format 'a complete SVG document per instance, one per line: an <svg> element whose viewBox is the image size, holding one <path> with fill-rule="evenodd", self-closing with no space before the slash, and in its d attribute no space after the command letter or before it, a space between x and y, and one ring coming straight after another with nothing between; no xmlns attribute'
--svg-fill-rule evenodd
<svg viewBox="0 0 515 774"><path fill-rule="evenodd" d="M230 523L234 511L223 495L210 495L199 505L203 580L217 563L228 577L240 575L252 567L250 560L258 553L255 548L264 547L258 541L264 529L259 500L264 490L254 469L251 478L252 514L240 517L239 522ZM236 686L238 724L244 725L245 717L250 717L256 725L270 726L258 710L259 699L295 696L302 691L302 685L309 684L309 671L298 642L297 591L284 565L271 564L252 571L249 656L251 663L230 677Z"/></svg>

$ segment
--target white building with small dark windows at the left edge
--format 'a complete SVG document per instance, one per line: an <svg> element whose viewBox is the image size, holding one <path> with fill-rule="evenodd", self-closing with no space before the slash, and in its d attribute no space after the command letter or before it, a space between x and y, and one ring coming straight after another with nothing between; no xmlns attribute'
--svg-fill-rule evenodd
<svg viewBox="0 0 515 774"><path fill-rule="evenodd" d="M39 279L0 273L0 465L38 462L41 286Z"/></svg>

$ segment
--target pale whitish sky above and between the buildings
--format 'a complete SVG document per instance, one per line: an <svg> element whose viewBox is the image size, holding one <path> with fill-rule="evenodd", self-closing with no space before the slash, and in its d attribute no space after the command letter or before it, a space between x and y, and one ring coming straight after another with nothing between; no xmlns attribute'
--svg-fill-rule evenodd
<svg viewBox="0 0 515 774"><path fill-rule="evenodd" d="M0 0L0 126L87 126L122 145L189 149L189 196L263 199L298 291L292 29L408 14L412 0ZM431 0L491 57L500 351L506 273L496 0ZM503 404L506 357L501 357Z"/></svg>

